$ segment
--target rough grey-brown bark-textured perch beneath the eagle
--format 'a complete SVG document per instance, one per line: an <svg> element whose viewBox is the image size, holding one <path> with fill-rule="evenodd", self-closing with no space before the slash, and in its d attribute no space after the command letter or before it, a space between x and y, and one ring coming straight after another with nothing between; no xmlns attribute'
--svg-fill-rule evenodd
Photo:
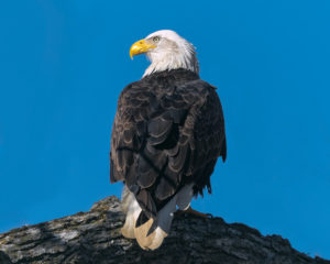
<svg viewBox="0 0 330 264"><path fill-rule="evenodd" d="M164 244L146 252L121 237L123 220L112 196L88 212L11 230L0 234L0 263L330 264L297 252L279 235L263 237L244 224L191 216L177 217Z"/></svg>

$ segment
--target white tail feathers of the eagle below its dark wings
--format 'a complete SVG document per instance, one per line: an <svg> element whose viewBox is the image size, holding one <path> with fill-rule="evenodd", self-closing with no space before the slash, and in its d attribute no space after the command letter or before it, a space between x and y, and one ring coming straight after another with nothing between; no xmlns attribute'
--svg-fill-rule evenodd
<svg viewBox="0 0 330 264"><path fill-rule="evenodd" d="M154 223L154 219L150 219L144 224L135 228L136 220L139 218L141 207L139 206L134 195L128 190L127 187L122 194L122 208L127 212L127 220L121 229L123 237L128 239L136 239L139 245L143 250L155 250L160 248L167 237L170 224L173 221L176 207L185 210L189 207L193 198L193 185L185 186L177 195L175 195L165 207L157 213L157 228L147 235L150 228Z"/></svg>

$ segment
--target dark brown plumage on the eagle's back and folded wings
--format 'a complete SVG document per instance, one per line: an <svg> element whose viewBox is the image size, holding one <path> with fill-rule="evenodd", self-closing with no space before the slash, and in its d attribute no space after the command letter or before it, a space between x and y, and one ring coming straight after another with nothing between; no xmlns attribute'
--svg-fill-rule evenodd
<svg viewBox="0 0 330 264"><path fill-rule="evenodd" d="M151 74L120 95L111 134L110 179L123 180L142 208L136 226L156 218L178 190L211 193L226 160L222 107L216 88L186 69Z"/></svg>

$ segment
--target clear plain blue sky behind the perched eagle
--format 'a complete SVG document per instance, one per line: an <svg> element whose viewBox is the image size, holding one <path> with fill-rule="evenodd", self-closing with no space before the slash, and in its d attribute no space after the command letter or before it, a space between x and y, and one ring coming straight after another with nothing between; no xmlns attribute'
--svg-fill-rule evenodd
<svg viewBox="0 0 330 264"><path fill-rule="evenodd" d="M330 258L330 2L22 0L0 3L0 232L109 195L131 44L172 29L219 87L228 162L196 209Z"/></svg>

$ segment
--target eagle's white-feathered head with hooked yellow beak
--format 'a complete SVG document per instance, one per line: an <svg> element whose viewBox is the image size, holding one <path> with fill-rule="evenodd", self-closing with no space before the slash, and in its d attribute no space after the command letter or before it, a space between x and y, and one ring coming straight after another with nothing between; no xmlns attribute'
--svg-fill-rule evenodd
<svg viewBox="0 0 330 264"><path fill-rule="evenodd" d="M131 58L143 53L151 61L143 77L152 73L177 68L189 69L196 74L199 72L194 45L174 31L156 31L131 46Z"/></svg>

